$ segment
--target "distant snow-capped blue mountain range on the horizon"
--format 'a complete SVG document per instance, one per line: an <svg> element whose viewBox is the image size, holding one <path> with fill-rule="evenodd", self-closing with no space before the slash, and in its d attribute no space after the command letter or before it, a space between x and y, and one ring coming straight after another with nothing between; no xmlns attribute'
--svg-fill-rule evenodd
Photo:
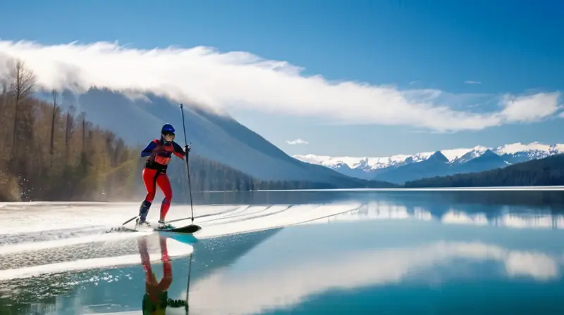
<svg viewBox="0 0 564 315"><path fill-rule="evenodd" d="M384 158L336 158L311 154L293 157L360 179L404 184L406 181L434 176L482 172L559 153L564 153L564 144L546 145L533 142L511 143L498 148L476 146Z"/></svg>

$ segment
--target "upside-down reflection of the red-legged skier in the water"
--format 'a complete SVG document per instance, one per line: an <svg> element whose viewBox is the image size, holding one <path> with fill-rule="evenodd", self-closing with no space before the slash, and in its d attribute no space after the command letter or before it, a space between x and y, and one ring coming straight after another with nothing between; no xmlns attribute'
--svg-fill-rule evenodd
<svg viewBox="0 0 564 315"><path fill-rule="evenodd" d="M143 296L142 303L143 315L164 315L166 314L166 307L185 307L185 309L188 309L185 301L168 298L168 287L172 283L172 265L168 258L166 237L159 235L161 262L163 265L163 278L161 281L157 281L157 276L155 276L151 269L147 237L137 238L137 248L141 256L141 264L143 269L145 269L145 295Z"/></svg>

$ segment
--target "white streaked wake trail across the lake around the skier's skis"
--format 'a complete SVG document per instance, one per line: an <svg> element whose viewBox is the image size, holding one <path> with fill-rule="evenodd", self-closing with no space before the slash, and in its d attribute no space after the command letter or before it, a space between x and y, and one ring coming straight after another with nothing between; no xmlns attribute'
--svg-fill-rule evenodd
<svg viewBox="0 0 564 315"><path fill-rule="evenodd" d="M305 205L198 205L197 239L215 238L305 224L361 207L360 203ZM0 281L109 266L140 264L137 238L154 231L112 232L138 211L137 203L0 203ZM147 220L157 223L159 209ZM167 219L190 216L190 206L173 205ZM176 226L190 224L190 219ZM135 221L125 226L135 226ZM193 248L167 239L171 257L190 255ZM152 260L159 261L157 244Z"/></svg>

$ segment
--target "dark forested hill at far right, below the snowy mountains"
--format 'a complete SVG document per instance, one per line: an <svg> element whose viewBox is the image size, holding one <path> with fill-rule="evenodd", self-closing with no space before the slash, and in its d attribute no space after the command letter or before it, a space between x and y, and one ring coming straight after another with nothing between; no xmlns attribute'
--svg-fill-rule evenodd
<svg viewBox="0 0 564 315"><path fill-rule="evenodd" d="M486 172L408 181L405 188L564 185L564 155L522 162Z"/></svg>

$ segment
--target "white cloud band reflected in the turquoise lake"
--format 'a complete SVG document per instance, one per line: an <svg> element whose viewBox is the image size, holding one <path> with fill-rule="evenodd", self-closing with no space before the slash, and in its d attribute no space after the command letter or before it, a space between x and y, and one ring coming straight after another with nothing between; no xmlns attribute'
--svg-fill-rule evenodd
<svg viewBox="0 0 564 315"><path fill-rule="evenodd" d="M276 268L256 264L252 274L235 266L202 277L192 284L197 295L190 295L190 307L218 314L256 314L265 309L287 309L329 290L384 287L407 280L449 283L453 275L443 266L460 262L496 263L501 267L497 275L501 278L539 282L557 280L561 268L555 257L544 252L511 250L480 242L441 241L407 248L349 250L335 257L298 255L291 264L281 261ZM474 281L489 276L479 267L468 270L455 272L455 276ZM179 298L185 299L186 294Z"/></svg>

